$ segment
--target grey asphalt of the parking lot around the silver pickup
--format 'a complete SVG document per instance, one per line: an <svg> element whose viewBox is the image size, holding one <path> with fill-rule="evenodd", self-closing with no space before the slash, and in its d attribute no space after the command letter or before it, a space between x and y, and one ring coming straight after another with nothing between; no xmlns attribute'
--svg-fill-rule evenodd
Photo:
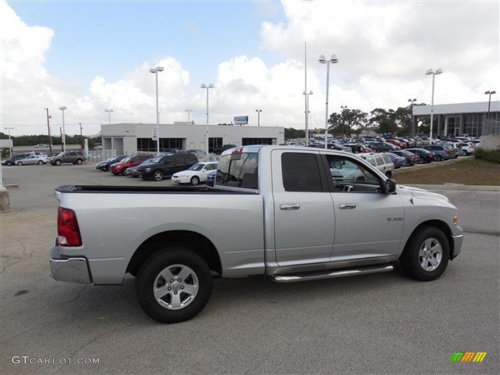
<svg viewBox="0 0 500 375"><path fill-rule="evenodd" d="M138 306L133 277L109 286L55 281L48 257L55 186L170 180L113 176L88 163L8 167L3 179L18 187L0 216L1 374L500 373L497 190L432 188L458 207L465 230L461 254L438 280L417 282L399 267L296 284L215 279L197 317L162 325ZM487 354L450 362L457 351Z"/></svg>

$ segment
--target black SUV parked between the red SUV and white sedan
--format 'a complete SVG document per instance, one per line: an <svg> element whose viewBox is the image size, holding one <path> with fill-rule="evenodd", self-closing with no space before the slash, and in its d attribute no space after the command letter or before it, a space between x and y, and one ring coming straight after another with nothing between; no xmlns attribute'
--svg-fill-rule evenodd
<svg viewBox="0 0 500 375"><path fill-rule="evenodd" d="M197 162L196 155L190 152L159 155L147 164L140 164L137 167L137 174L142 179L161 181L164 177L170 177L173 173L187 169Z"/></svg>

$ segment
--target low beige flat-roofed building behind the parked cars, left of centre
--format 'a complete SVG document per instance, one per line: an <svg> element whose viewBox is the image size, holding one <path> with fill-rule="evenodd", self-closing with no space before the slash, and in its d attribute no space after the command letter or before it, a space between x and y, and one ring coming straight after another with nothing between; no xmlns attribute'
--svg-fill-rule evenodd
<svg viewBox="0 0 500 375"><path fill-rule="evenodd" d="M191 122L155 123L111 123L101 125L103 149L114 149L117 154L136 152L155 152L155 135L159 138L159 150L166 148L206 149L207 125ZM224 144L280 144L284 143L284 127L245 126L245 125L208 125L208 149Z"/></svg>

